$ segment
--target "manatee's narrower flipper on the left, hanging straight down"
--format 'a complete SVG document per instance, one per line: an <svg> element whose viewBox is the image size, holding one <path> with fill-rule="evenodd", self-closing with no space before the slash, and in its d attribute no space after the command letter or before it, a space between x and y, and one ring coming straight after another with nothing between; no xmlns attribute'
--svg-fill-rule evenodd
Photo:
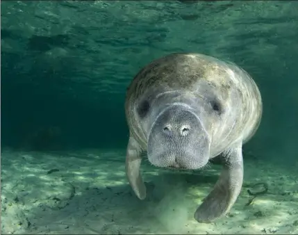
<svg viewBox="0 0 298 235"><path fill-rule="evenodd" d="M144 200L146 197L146 186L142 180L142 175L140 174L141 165L141 153L142 150L133 136L129 137L129 145L126 149L126 176L129 179L129 184L135 192L135 195Z"/></svg>

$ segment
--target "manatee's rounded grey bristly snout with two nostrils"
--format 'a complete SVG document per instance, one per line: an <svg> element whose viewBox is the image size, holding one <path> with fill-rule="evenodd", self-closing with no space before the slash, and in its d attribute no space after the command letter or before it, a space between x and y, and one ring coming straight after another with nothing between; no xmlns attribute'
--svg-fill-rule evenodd
<svg viewBox="0 0 298 235"><path fill-rule="evenodd" d="M172 105L154 121L147 153L158 167L198 169L208 163L210 139L192 108Z"/></svg>

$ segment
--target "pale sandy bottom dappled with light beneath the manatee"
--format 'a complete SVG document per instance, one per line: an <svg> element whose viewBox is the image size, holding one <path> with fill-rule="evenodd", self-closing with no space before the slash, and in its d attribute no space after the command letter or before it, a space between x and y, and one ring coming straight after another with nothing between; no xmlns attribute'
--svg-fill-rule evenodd
<svg viewBox="0 0 298 235"><path fill-rule="evenodd" d="M218 166L201 172L160 170L143 162L147 198L138 200L124 174L125 150L1 154L3 234L298 234L298 173L254 158L245 162L242 193L228 216L193 218ZM251 204L247 189L269 190ZM247 205L249 204L249 205Z"/></svg>

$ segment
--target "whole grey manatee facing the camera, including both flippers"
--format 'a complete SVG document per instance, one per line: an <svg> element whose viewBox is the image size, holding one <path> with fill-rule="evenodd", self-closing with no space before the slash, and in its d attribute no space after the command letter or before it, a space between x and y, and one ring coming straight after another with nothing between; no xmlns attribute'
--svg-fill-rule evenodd
<svg viewBox="0 0 298 235"><path fill-rule="evenodd" d="M235 203L243 179L242 145L262 115L256 83L240 67L201 54L171 54L144 67L126 93L130 137L126 175L143 200L141 153L160 168L200 169L215 156L223 168L194 213L212 222Z"/></svg>

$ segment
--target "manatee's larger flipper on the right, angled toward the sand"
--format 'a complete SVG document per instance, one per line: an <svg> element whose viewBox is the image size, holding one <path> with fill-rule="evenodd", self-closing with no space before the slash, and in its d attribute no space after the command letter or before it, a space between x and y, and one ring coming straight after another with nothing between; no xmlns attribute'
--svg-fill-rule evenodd
<svg viewBox="0 0 298 235"><path fill-rule="evenodd" d="M222 153L223 169L213 191L194 213L198 222L213 222L225 215L241 191L243 181L242 143Z"/></svg>

